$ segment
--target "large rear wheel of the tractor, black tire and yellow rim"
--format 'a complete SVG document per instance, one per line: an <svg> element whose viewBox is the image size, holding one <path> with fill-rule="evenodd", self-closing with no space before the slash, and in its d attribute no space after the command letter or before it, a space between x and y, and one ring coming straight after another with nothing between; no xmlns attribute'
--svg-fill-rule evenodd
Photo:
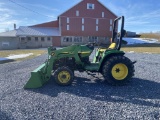
<svg viewBox="0 0 160 120"><path fill-rule="evenodd" d="M134 65L125 56L113 56L109 58L103 68L104 79L111 85L125 85L134 76Z"/></svg>

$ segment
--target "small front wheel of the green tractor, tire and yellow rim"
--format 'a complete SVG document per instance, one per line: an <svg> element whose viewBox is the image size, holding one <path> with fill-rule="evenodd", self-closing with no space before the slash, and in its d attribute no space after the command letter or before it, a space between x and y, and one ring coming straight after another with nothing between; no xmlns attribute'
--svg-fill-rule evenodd
<svg viewBox="0 0 160 120"><path fill-rule="evenodd" d="M68 67L59 67L54 73L55 82L61 86L72 84L74 73Z"/></svg>

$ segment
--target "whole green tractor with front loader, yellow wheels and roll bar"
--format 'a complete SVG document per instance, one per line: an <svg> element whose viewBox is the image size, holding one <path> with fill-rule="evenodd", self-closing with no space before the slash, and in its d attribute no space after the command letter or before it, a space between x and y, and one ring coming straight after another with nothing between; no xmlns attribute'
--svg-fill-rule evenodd
<svg viewBox="0 0 160 120"><path fill-rule="evenodd" d="M121 20L120 32L118 21ZM114 20L112 43L109 47L99 47L92 62L89 56L94 50L94 43L87 45L71 45L62 49L48 48L48 59L45 63L31 72L31 78L24 88L38 88L50 80L58 85L72 84L74 71L87 73L101 73L111 85L124 85L134 75L134 63L120 51L121 41L125 35L124 16Z"/></svg>

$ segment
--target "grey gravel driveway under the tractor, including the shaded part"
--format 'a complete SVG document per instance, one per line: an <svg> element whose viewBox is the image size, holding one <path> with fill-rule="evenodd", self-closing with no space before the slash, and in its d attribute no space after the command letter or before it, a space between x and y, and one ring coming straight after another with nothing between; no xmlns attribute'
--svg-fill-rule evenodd
<svg viewBox="0 0 160 120"><path fill-rule="evenodd" d="M39 89L24 90L30 72L47 55L0 65L1 120L62 119L160 119L160 54L127 53L135 64L135 76L127 86L114 87L76 72L72 86L50 80Z"/></svg>

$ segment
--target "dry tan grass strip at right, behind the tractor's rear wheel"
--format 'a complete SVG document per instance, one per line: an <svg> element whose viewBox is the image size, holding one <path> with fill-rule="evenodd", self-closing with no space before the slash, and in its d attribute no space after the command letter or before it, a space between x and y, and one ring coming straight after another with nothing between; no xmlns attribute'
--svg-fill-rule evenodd
<svg viewBox="0 0 160 120"><path fill-rule="evenodd" d="M123 46L121 50L125 52L134 51L138 53L158 53L160 54L160 44L140 44Z"/></svg>

